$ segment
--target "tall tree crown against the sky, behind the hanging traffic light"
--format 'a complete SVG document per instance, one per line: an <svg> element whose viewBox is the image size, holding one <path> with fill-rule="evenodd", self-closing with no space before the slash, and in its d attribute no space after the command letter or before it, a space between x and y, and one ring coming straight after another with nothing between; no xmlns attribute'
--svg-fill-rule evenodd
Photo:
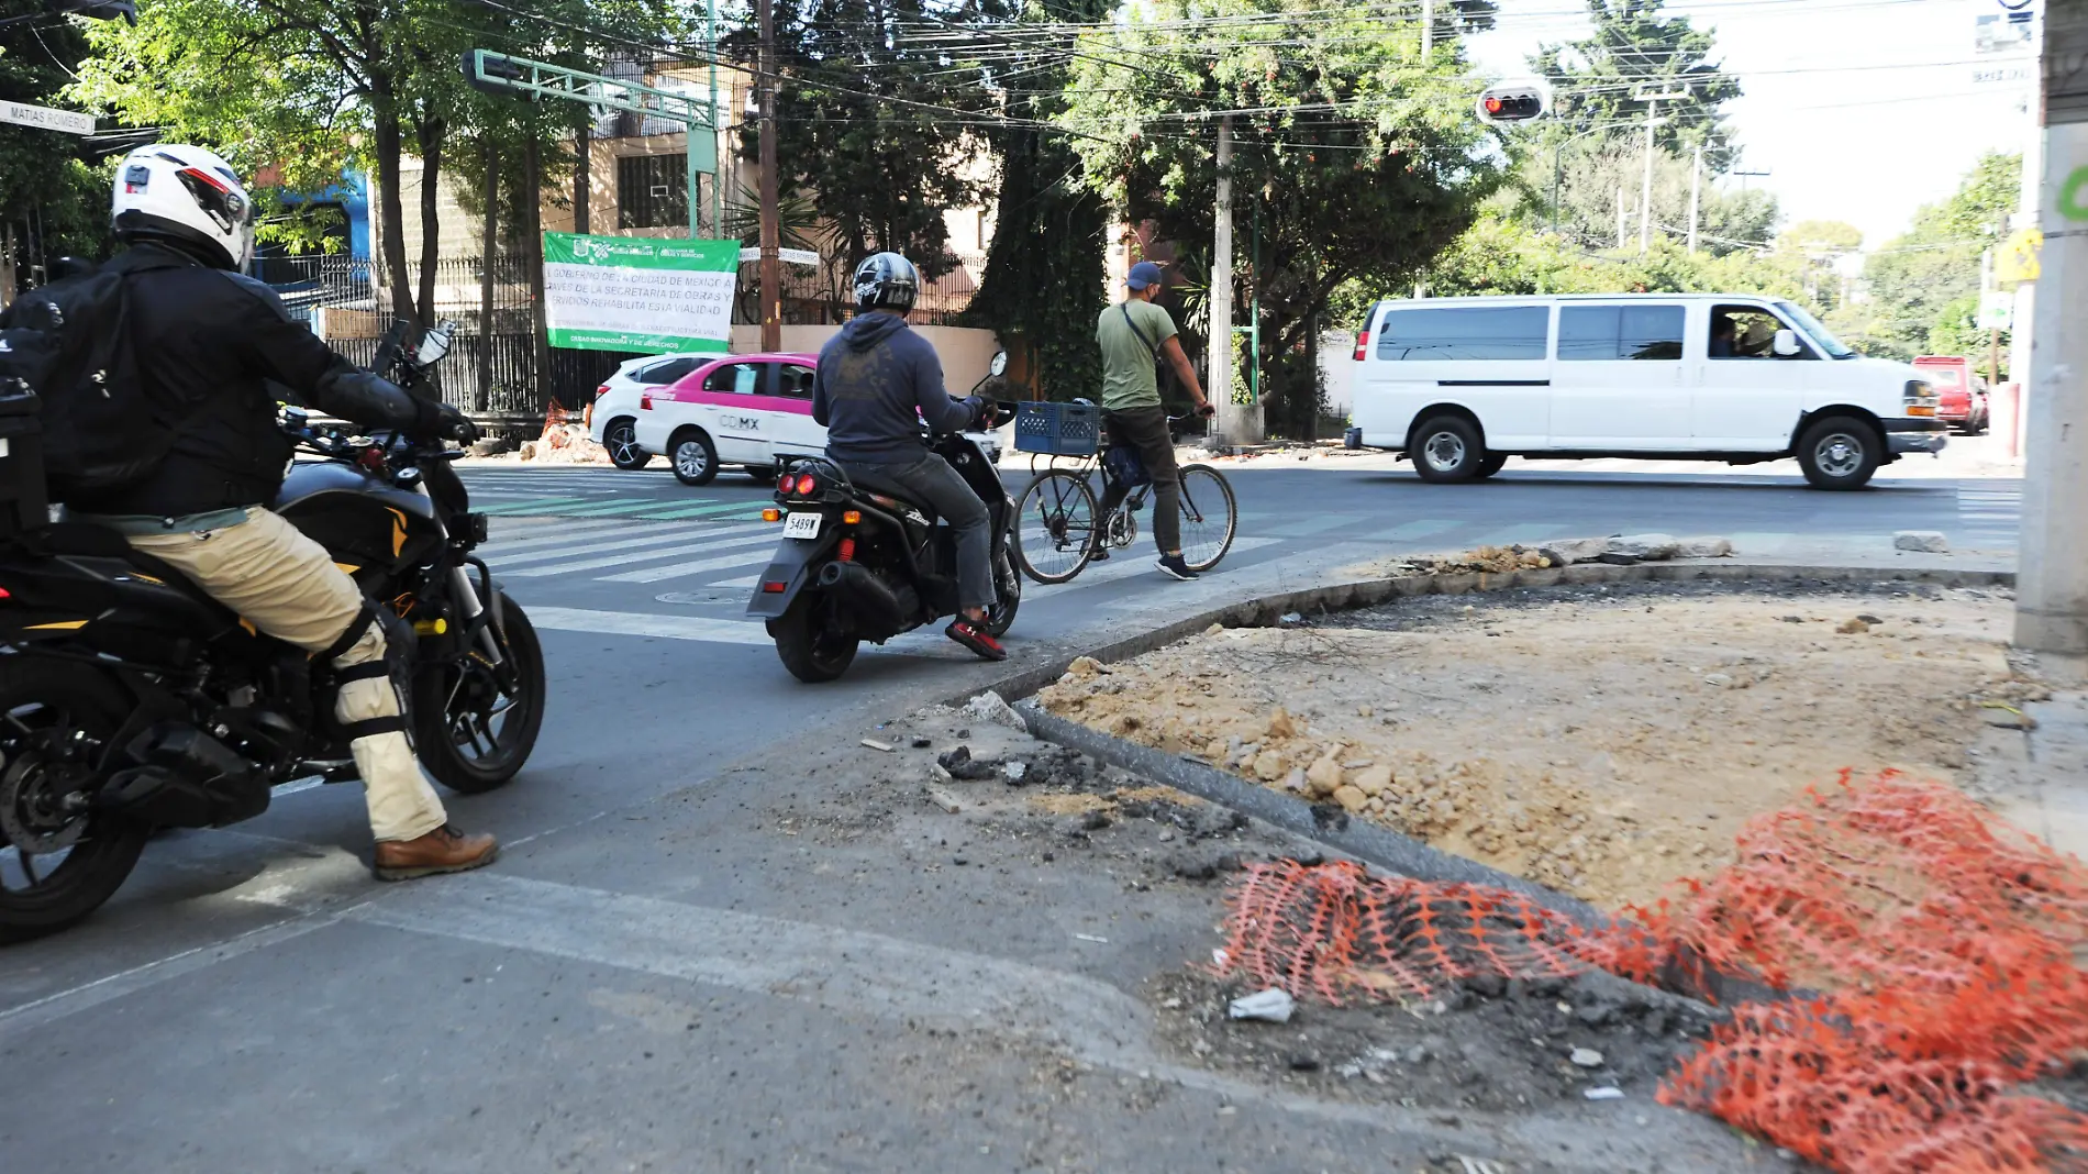
<svg viewBox="0 0 2088 1174"><path fill-rule="evenodd" d="M1654 142L1672 155L1704 146L1704 165L1723 175L1733 148L1721 136L1721 107L1739 81L1712 61L1718 44L1689 17L1666 17L1664 0L1587 0L1593 31L1541 48L1531 65L1553 84L1558 136L1597 127L1643 127L1641 94L1687 94L1660 102Z"/></svg>

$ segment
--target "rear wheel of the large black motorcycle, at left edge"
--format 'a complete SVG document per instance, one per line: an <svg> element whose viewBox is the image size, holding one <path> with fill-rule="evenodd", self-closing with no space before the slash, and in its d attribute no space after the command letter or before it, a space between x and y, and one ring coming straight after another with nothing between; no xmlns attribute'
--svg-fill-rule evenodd
<svg viewBox="0 0 2088 1174"><path fill-rule="evenodd" d="M0 662L0 944L56 934L102 907L152 827L86 804L129 702L98 668Z"/></svg>

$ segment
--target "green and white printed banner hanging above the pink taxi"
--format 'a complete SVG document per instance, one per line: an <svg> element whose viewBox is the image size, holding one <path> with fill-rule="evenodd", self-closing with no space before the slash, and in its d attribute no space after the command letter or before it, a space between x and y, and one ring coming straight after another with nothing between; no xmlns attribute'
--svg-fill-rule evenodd
<svg viewBox="0 0 2088 1174"><path fill-rule="evenodd" d="M737 282L737 240L543 234L553 347L722 353Z"/></svg>

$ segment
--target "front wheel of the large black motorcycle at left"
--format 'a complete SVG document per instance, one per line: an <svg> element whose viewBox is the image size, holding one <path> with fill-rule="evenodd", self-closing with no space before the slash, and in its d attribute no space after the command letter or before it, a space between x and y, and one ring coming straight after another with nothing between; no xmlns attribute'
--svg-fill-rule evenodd
<svg viewBox="0 0 2088 1174"><path fill-rule="evenodd" d="M480 652L413 675L413 750L445 788L482 794L528 762L543 729L543 645L528 614L501 591L501 666Z"/></svg>

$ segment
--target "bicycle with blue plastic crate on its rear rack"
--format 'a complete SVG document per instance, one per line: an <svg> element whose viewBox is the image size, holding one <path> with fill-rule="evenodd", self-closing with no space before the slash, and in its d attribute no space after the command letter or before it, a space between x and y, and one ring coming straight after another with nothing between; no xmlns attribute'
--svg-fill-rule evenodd
<svg viewBox="0 0 2088 1174"><path fill-rule="evenodd" d="M1169 416L1169 424L1188 416ZM1098 499L1088 476L1100 468L1105 480L1115 480L1109 470L1109 432L1102 432L1098 451L1082 457L1052 453L1031 453L1029 485L1015 499L1015 562L1023 574L1038 583L1069 583L1086 570L1094 558L1096 524L1100 539L1117 549L1138 541L1138 518L1144 510L1153 483L1132 489L1123 506L1107 518L1096 520ZM1038 457L1048 462L1038 472ZM1059 462L1069 462L1061 466ZM1186 464L1182 474L1182 562L1194 572L1217 566L1232 549L1238 531L1238 510L1232 485L1221 472L1207 464Z"/></svg>

